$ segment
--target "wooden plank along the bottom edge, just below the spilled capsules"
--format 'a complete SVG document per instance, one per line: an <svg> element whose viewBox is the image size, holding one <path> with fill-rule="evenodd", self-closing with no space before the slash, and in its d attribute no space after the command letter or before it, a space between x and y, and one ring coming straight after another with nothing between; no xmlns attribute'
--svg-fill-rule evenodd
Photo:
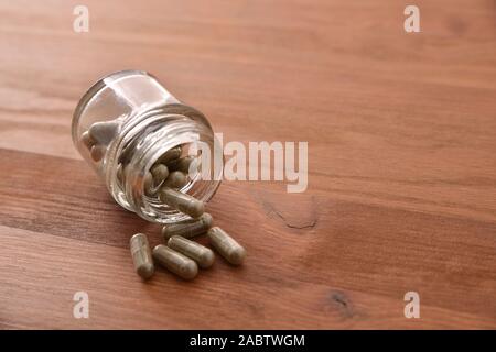
<svg viewBox="0 0 496 352"><path fill-rule="evenodd" d="M261 255L242 268L218 262L192 283L163 271L142 283L127 250L6 227L0 234L2 254L8 254L0 256L8 268L0 279L7 328L494 327L490 318L428 302L421 321L405 319L401 299L287 273L278 278ZM73 317L72 298L79 290L88 293L89 319Z"/></svg>

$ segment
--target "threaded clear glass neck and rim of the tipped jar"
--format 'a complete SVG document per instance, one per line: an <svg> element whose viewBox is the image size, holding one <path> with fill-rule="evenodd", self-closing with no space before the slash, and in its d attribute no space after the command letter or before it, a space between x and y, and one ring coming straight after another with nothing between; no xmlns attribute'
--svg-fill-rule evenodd
<svg viewBox="0 0 496 352"><path fill-rule="evenodd" d="M195 119L164 109L148 110L126 119L105 174L107 187L116 201L152 222L170 223L187 219L186 215L162 204L155 196L147 195L144 176L163 154L175 146L183 147L183 156L187 155L191 145L198 143L214 151L215 136L208 122L204 121L204 118ZM211 160L214 160L213 155ZM119 167L122 168L121 177ZM206 202L217 190L220 178L205 180L201 176L202 173L196 173L181 191Z"/></svg>

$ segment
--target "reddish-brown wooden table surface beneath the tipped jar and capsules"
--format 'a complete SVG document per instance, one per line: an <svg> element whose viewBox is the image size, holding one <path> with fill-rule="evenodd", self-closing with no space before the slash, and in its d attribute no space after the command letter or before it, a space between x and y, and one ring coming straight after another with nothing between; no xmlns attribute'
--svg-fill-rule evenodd
<svg viewBox="0 0 496 352"><path fill-rule="evenodd" d="M0 4L1 328L496 328L495 2ZM121 209L71 141L98 77L138 68L226 141L308 141L309 188L225 182L208 211L248 250L143 283ZM89 296L75 319L73 296ZM420 295L420 318L403 297Z"/></svg>

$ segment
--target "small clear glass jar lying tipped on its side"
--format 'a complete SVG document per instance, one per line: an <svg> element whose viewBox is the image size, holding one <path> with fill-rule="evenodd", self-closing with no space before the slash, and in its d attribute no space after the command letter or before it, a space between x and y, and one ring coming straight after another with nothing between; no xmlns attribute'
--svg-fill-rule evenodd
<svg viewBox="0 0 496 352"><path fill-rule="evenodd" d="M198 143L208 146L213 154L218 152L204 114L181 103L153 76L140 70L110 74L89 88L74 111L72 136L80 155L120 206L160 223L185 220L188 216L144 190L145 175L153 164L168 151L177 151L177 146L182 157L197 151ZM190 173L180 190L206 202L220 185L222 167L214 167L215 155L201 160L196 165L208 166L213 177L206 179L202 172Z"/></svg>

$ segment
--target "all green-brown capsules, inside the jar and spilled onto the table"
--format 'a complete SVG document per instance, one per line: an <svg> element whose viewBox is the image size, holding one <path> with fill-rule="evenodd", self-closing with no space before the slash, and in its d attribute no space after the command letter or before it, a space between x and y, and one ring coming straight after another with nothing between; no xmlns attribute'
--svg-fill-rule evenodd
<svg viewBox="0 0 496 352"><path fill-rule="evenodd" d="M96 122L82 134L80 141L95 162L104 158L118 129L117 121ZM132 145L128 146L128 150L132 151ZM144 195L191 217L188 220L163 227L164 243L155 245L153 250L143 233L137 233L130 239L134 270L143 279L153 276L154 262L184 279L196 277L198 267L211 267L215 261L214 252L192 240L202 234L207 235L212 248L228 263L240 265L246 256L246 250L236 240L219 227L213 227L213 218L205 212L203 201L181 191L190 182L190 170L197 167L196 157L182 156L182 152L181 146L169 150L142 178ZM121 185L130 161L129 154L125 150L119 158L117 179Z"/></svg>

